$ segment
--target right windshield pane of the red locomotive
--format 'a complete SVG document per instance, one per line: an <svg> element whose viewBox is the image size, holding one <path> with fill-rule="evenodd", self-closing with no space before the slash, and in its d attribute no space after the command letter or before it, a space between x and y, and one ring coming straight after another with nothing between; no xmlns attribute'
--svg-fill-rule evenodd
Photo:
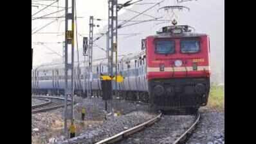
<svg viewBox="0 0 256 144"><path fill-rule="evenodd" d="M198 40L181 40L181 52L182 53L199 52L199 41Z"/></svg>

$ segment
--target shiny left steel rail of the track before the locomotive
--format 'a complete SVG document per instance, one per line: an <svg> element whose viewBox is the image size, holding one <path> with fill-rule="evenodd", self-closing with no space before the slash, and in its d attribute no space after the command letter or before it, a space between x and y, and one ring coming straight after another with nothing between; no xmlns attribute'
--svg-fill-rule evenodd
<svg viewBox="0 0 256 144"><path fill-rule="evenodd" d="M98 141L95 144L108 144L108 143L115 143L116 141L120 141L123 138L126 138L127 136L130 136L131 134L134 134L138 131L141 131L142 129L144 129L145 127L149 127L150 125L154 124L155 122L157 122L158 120L160 120L161 118L161 113L152 118L151 120L148 120L147 122L144 122L143 124L140 125L136 125L135 127L132 127L131 129L127 129L125 131L122 131L114 136L111 136L109 138L106 138L104 140Z"/></svg>

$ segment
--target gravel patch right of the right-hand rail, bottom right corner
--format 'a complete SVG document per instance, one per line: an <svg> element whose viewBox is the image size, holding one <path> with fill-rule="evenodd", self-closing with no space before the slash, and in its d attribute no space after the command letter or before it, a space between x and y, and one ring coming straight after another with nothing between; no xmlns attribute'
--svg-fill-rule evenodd
<svg viewBox="0 0 256 144"><path fill-rule="evenodd" d="M224 112L200 109L201 120L187 144L224 143Z"/></svg>

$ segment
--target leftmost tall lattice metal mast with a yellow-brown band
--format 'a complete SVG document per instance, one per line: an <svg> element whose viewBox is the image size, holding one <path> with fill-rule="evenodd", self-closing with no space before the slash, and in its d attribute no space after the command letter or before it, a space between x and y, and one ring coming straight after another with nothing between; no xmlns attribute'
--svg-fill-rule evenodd
<svg viewBox="0 0 256 144"><path fill-rule="evenodd" d="M68 12L69 4L71 4L71 12ZM69 25L71 20L71 26ZM70 50L69 50L70 49ZM69 57L68 52L71 51ZM64 131L67 134L67 118L73 119L74 111L74 0L65 1L65 108L64 108ZM70 83L68 84L68 74L70 74ZM71 95L71 113L68 115L67 100Z"/></svg>

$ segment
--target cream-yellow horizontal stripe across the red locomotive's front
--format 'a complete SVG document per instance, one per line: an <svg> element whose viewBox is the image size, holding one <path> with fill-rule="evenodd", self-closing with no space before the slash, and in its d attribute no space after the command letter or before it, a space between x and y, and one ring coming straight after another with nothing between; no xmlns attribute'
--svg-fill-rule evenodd
<svg viewBox="0 0 256 144"><path fill-rule="evenodd" d="M198 66L197 70L193 70L193 67L187 67L187 71L203 71L203 70L210 70L209 66ZM161 72L186 72L186 67L165 67L164 71ZM147 72L160 72L159 67L147 67Z"/></svg>

